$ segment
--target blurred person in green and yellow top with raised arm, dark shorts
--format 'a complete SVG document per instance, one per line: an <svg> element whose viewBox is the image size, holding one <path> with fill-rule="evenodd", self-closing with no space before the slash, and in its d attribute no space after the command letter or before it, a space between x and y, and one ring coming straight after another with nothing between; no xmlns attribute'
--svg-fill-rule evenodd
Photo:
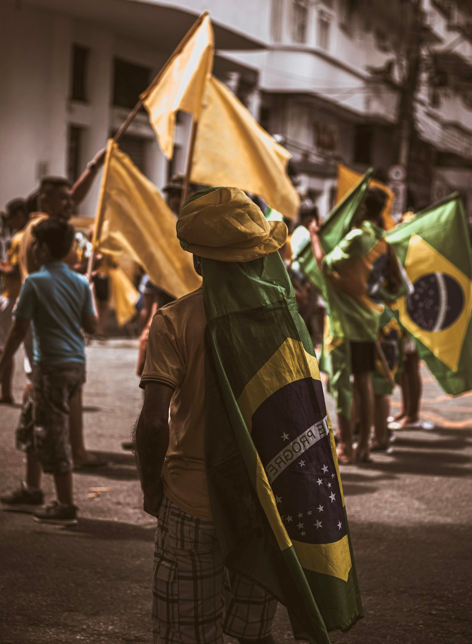
<svg viewBox="0 0 472 644"><path fill-rule="evenodd" d="M375 370L375 341L383 310L382 297L395 299L401 276L393 250L384 240L381 214L386 193L368 188L355 215L357 227L325 256L319 240L320 227L310 225L312 251L319 271L330 284L330 314L341 320L348 350L346 368L354 376L360 437L353 449L349 410L338 409L341 440L339 462L370 460L369 439L373 426L374 399L371 374Z"/></svg>

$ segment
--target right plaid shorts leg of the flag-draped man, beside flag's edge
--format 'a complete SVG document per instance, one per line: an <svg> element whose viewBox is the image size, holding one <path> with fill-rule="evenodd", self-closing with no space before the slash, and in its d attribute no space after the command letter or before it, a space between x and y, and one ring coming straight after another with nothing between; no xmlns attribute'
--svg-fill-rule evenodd
<svg viewBox="0 0 472 644"><path fill-rule="evenodd" d="M277 600L249 579L225 571L223 632L240 644L272 644L272 623Z"/></svg>

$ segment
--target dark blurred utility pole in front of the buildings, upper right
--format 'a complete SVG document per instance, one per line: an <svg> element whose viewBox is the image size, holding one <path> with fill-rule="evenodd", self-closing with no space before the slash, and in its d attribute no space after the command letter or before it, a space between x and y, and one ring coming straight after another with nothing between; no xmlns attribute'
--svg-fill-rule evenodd
<svg viewBox="0 0 472 644"><path fill-rule="evenodd" d="M403 0L404 1L404 0ZM390 187L395 193L394 215L399 216L406 210L408 187L408 160L410 158L411 135L413 126L413 107L421 68L422 0L407 0L411 5L410 28L406 34L406 75L401 87L397 129L395 135L395 157L397 165L388 173Z"/></svg>

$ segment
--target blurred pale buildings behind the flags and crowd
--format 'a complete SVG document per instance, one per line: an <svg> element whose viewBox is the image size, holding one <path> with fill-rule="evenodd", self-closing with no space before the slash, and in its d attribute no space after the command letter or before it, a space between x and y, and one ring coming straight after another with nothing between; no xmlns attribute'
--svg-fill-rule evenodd
<svg viewBox="0 0 472 644"><path fill-rule="evenodd" d="M472 218L470 0L0 0L0 204L75 180L205 8L214 73L283 135L322 214L343 162L416 210L460 189ZM143 111L120 145L162 187L188 136L180 115L167 163Z"/></svg>

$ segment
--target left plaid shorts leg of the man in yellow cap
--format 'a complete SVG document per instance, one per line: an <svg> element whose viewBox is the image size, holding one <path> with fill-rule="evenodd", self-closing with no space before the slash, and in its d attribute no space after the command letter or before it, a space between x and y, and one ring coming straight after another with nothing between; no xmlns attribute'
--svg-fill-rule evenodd
<svg viewBox="0 0 472 644"><path fill-rule="evenodd" d="M159 508L153 575L155 644L223 644L223 554L212 521L166 497Z"/></svg>

